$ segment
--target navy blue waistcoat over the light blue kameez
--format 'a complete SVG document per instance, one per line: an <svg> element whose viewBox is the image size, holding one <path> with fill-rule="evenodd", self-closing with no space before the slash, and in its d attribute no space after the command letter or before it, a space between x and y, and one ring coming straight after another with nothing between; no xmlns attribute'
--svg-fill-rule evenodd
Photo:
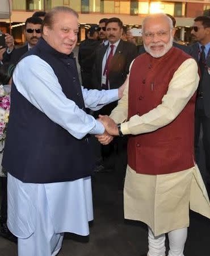
<svg viewBox="0 0 210 256"><path fill-rule="evenodd" d="M73 56L57 52L42 38L23 57L28 55L37 55L51 65L66 97L85 109ZM94 157L87 137L73 137L35 108L12 84L2 166L26 183L54 183L89 176Z"/></svg>

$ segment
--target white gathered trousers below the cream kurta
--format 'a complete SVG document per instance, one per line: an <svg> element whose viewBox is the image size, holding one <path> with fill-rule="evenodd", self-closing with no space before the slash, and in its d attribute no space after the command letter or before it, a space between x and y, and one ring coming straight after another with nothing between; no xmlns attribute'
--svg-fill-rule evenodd
<svg viewBox="0 0 210 256"><path fill-rule="evenodd" d="M187 228L176 229L168 233L169 254L168 256L184 256L184 245L187 240ZM148 227L148 256L165 256L165 234L155 237L152 230Z"/></svg>

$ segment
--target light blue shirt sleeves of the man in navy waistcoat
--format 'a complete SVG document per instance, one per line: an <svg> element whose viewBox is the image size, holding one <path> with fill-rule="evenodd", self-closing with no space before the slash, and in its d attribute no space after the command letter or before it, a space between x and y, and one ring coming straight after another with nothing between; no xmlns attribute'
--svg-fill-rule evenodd
<svg viewBox="0 0 210 256"><path fill-rule="evenodd" d="M22 59L16 66L12 79L19 93L75 138L81 139L88 133L104 133L101 122L79 109L74 101L65 96L53 69L40 57L30 55ZM117 89L99 91L82 87L82 94L86 108L92 110L99 110L104 105L119 100Z"/></svg>

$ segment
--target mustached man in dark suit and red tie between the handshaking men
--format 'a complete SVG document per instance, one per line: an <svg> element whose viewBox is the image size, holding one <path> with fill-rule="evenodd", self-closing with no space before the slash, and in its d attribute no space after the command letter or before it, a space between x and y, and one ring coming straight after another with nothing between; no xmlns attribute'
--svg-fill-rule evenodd
<svg viewBox="0 0 210 256"><path fill-rule="evenodd" d="M106 22L108 44L103 45L96 52L92 71L95 89L119 88L127 78L129 65L137 56L137 48L134 44L121 40L122 32L123 23L119 18L108 19ZM99 114L109 115L116 105L117 101L104 106L95 113L95 117L98 117ZM114 159L113 156L116 148L118 156L121 156ZM115 163L115 166L119 168L120 174L123 175L123 171L120 170L120 164L126 161L126 151L127 140L124 138L118 139L118 141L116 140L107 146L102 146L104 161L98 168L98 171L112 169ZM126 166L126 163L124 163L124 166ZM121 181L120 184L122 184Z"/></svg>

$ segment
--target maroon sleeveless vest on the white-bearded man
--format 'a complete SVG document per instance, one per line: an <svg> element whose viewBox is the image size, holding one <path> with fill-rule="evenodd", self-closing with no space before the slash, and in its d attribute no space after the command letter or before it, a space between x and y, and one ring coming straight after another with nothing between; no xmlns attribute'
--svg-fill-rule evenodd
<svg viewBox="0 0 210 256"><path fill-rule="evenodd" d="M129 77L128 118L148 113L161 104L174 73L188 58L190 56L174 47L160 58L148 53L138 56ZM193 167L194 109L195 94L169 125L129 137L128 165L139 174L151 175Z"/></svg>

